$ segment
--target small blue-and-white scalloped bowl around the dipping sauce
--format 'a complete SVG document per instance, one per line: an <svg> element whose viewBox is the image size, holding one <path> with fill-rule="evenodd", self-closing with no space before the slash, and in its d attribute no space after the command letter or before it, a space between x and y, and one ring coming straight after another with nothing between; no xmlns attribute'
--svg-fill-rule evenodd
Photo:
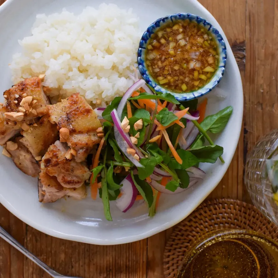
<svg viewBox="0 0 278 278"><path fill-rule="evenodd" d="M179 20L189 20L192 22L195 22L199 25L204 26L206 30L208 30L213 38L215 39L217 46L218 46L218 55L219 55L219 63L218 63L218 69L214 73L213 77L207 83L204 85L204 87L201 87L200 89L188 92L188 93L175 93L172 92L162 86L160 86L155 79L151 76L149 73L147 66L146 66L146 47L149 39L151 38L151 35L154 34L160 27L163 25L167 25L170 22L175 22ZM162 92L162 93L171 93L177 100L180 101L186 101L191 100L194 98L199 98L201 96L204 96L211 92L211 90L220 82L220 80L223 77L225 66L226 66L226 60L227 60L227 50L226 50L226 44L224 42L224 39L222 35L219 33L219 31L214 28L208 21L203 19L202 17L198 17L195 14L172 14L170 16L162 17L155 22L153 22L147 30L144 32L138 49L138 67L139 71L142 75L142 77L145 79L147 84L149 84L151 87L153 87L156 91Z"/></svg>

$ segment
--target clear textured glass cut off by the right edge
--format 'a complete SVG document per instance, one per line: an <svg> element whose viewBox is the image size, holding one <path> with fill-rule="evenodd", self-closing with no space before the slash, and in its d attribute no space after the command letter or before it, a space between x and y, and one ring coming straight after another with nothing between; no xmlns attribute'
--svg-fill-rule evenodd
<svg viewBox="0 0 278 278"><path fill-rule="evenodd" d="M278 205L277 200L275 201L277 188L270 182L266 162L270 156L277 155L277 149L278 129L261 138L248 153L244 177L254 205L276 225L278 225Z"/></svg>

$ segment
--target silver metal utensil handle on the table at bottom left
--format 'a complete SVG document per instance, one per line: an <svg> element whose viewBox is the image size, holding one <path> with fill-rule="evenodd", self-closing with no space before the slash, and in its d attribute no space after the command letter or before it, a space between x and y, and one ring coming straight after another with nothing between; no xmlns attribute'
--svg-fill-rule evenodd
<svg viewBox="0 0 278 278"><path fill-rule="evenodd" d="M2 237L6 242L11 244L14 248L19 250L22 254L24 254L26 257L28 257L30 260L32 260L35 264L37 264L39 267L41 267L45 272L47 272L50 276L53 278L78 278L78 277L70 277L70 276L64 276L59 274L58 272L51 269L49 266L47 266L45 263L43 263L41 260L39 260L36 256L34 256L32 253L30 253L26 248L24 248L19 242L17 242L11 235L9 235L2 227L0 227L0 237Z"/></svg>

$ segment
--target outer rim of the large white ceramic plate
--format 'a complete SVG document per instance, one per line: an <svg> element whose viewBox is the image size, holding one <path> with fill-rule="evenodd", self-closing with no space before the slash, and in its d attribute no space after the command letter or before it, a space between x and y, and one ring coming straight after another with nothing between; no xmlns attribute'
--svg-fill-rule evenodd
<svg viewBox="0 0 278 278"><path fill-rule="evenodd" d="M4 12L5 9L10 6L10 4L14 1L17 0L6 0L1 6L0 6L0 14L1 12ZM188 215L190 215L192 213L192 211L195 210L195 208L197 208L197 206L199 206L204 199L213 191L213 189L215 189L215 187L219 184L219 182L222 180L224 174L226 173L228 167L231 164L231 161L233 159L233 156L235 154L237 145L238 145L238 141L239 141L239 137L240 137L240 133L241 133L241 127L242 127L242 119L243 119L243 105L244 105L244 95L243 95L243 87L242 87L242 79L241 79L241 75L239 72L239 68L237 66L235 57L233 55L233 52L231 50L231 46L228 43L227 37L225 35L225 33L223 32L220 24L217 22L217 20L213 17L213 15L204 7L202 6L202 4L200 2L198 2L197 0L186 0L186 2L191 3L193 6L195 6L197 9L202 10L202 12L206 15L206 17L211 18L210 22L212 22L214 20L213 25L217 28L217 30L219 30L224 38L224 41L226 43L226 47L227 47L227 53L229 53L228 55L230 56L229 58L231 59L231 63L233 65L233 67L235 67L235 74L236 74L236 79L237 79L237 83L239 88L240 88L240 96L241 96L241 102L238 104L237 109L238 109L238 116L240 116L240 121L238 121L238 128L237 128L237 134L235 134L235 144L233 146L233 149L231 150L231 156L230 159L228 159L224 165L222 165L222 167L224 167L223 172L221 175L218 176L218 179L215 183L214 186L212 186L209 190L206 191L206 194L204 195L204 197L198 199L198 201L195 203L194 206L192 206L189 211L187 211L184 214L181 214L180 217L178 217L177 219L174 219L172 221L169 221L167 223L164 223L162 225L157 225L156 228L153 228L149 231L146 231L144 233L140 233L138 235L133 235L133 236L129 236L129 237L122 237L120 239L109 239L109 240L105 240L105 239L96 239L93 237L87 237L87 236L80 236L80 235L72 235L70 234L70 232L68 234L65 233L61 233L58 232L52 228L47 228L41 224L38 224L34 221L32 221L32 219L25 217L25 215L22 215L20 213L20 211L17 211L14 206L8 202L5 198L2 197L2 195L0 194L0 202L1 204L8 209L8 211L10 211L13 215L15 215L16 217L18 217L21 221L25 222L26 224L28 224L29 226L32 226L33 228L46 233L47 235L51 235L53 237L57 237L57 238L61 238L61 239L67 239L67 240L72 240L72 241L77 241L77 242L83 242L83 243L89 243L89 244L98 244L98 245L117 245L117 244L125 244L125 243L130 243L130 242L135 242L138 240L142 240L145 239L147 237L150 237L152 235L155 235L157 233L160 233L168 228L171 228L172 226L178 224L180 221L182 221L184 218L186 218Z"/></svg>

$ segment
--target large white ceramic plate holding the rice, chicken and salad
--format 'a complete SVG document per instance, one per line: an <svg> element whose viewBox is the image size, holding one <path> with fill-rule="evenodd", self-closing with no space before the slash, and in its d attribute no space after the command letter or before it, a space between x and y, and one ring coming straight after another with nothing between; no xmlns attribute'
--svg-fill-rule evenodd
<svg viewBox="0 0 278 278"><path fill-rule="evenodd" d="M85 6L97 7L102 0L8 0L0 7L0 91L11 87L8 63L12 54L20 50L18 39L30 35L36 14L61 12L67 8L80 13ZM105 220L100 199L90 196L83 201L60 200L53 204L38 201L37 180L24 175L12 160L0 156L0 202L28 225L54 237L92 244L121 244L133 242L163 231L188 216L220 182L235 152L242 124L243 92L239 70L226 36L213 16L196 0L115 0L120 8L133 8L140 17L142 33L159 17L189 12L212 23L227 45L226 71L220 85L209 97L207 114L228 105L234 108L227 127L216 138L224 147L225 164L202 165L207 175L202 184L176 195L162 195L154 218L148 217L144 204L121 213L111 202L113 222ZM2 98L2 97L1 97ZM0 99L2 102L3 99Z"/></svg>

